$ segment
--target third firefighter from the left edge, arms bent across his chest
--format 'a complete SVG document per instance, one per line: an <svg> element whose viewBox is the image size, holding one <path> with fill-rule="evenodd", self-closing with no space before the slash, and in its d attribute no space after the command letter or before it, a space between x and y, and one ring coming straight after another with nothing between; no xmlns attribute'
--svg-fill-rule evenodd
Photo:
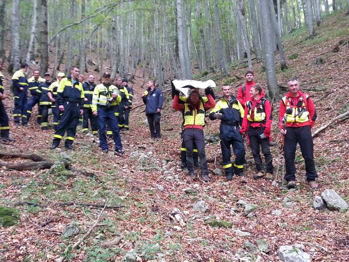
<svg viewBox="0 0 349 262"><path fill-rule="evenodd" d="M40 77L40 71L39 70L34 70L33 76L28 79L28 90L30 92L30 98L25 105L25 110L26 110L26 119L25 119L25 124L29 122L33 107L37 104L38 107L38 114L37 114L37 123L40 124L41 122L41 108L39 105L40 102L40 97L41 93L37 92L37 88L41 83L45 82L45 79Z"/></svg>

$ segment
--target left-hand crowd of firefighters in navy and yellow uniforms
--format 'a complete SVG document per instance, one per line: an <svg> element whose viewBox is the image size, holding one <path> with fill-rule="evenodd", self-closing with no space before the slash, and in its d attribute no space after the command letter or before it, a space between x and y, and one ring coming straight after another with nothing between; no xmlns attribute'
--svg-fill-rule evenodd
<svg viewBox="0 0 349 262"><path fill-rule="evenodd" d="M38 105L37 123L43 130L48 129L48 112L52 110L53 135L50 149L59 146L61 139L65 138L65 147L72 149L76 127L79 119L82 120L82 132L88 133L89 120L91 132L100 138L102 152L108 153L106 133L113 137L115 151L123 154L120 139L120 129L129 129L129 115L132 107L133 90L128 86L127 79L115 78L111 83L109 73L103 74L101 84L94 83L94 76L90 74L86 82L80 69L73 66L70 75L65 77L59 72L56 81L52 82L50 73L46 72L44 78L40 77L38 70L33 71L33 76L26 77L28 64L23 62L21 69L12 77L12 92L14 100L13 118L16 126L28 126L32 108ZM0 75L0 99L4 95L3 76ZM28 90L30 98L27 100ZM0 130L2 138L9 138L8 116L4 105L0 102ZM106 132L106 129L108 131ZM4 130L4 131L3 131Z"/></svg>

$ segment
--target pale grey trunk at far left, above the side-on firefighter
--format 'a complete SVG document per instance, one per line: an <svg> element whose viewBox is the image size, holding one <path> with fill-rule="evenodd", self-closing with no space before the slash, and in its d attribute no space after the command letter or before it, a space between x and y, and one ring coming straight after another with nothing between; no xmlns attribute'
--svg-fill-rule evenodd
<svg viewBox="0 0 349 262"><path fill-rule="evenodd" d="M12 0L12 48L8 71L14 72L20 67L20 0Z"/></svg>

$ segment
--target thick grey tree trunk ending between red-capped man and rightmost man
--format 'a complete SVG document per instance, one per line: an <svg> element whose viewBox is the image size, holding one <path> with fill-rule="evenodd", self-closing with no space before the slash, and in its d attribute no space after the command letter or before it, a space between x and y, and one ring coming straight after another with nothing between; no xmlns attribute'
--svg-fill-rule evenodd
<svg viewBox="0 0 349 262"><path fill-rule="evenodd" d="M261 14L261 22L262 22L262 30L264 39L264 48L263 52L265 52L265 64L266 64L266 79L268 84L269 96L273 98L273 101L280 100L280 90L279 85L276 80L276 72L275 72L275 55L274 48L271 41L271 37L274 34L272 30L272 24L270 22L270 11L269 6L262 4L259 2L260 14Z"/></svg>

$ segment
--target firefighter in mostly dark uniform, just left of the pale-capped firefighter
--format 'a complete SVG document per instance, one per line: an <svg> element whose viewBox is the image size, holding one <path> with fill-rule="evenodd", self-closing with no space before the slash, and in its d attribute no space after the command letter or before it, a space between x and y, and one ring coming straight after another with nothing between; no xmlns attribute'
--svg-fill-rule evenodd
<svg viewBox="0 0 349 262"><path fill-rule="evenodd" d="M41 113L42 113L42 117L40 121L41 129L47 130L48 129L48 109L52 105L52 102L48 97L49 87L52 84L50 73L45 73L44 78L45 78L45 82L41 83L36 89L36 91L41 94L40 101L39 101L39 106L41 108Z"/></svg>

